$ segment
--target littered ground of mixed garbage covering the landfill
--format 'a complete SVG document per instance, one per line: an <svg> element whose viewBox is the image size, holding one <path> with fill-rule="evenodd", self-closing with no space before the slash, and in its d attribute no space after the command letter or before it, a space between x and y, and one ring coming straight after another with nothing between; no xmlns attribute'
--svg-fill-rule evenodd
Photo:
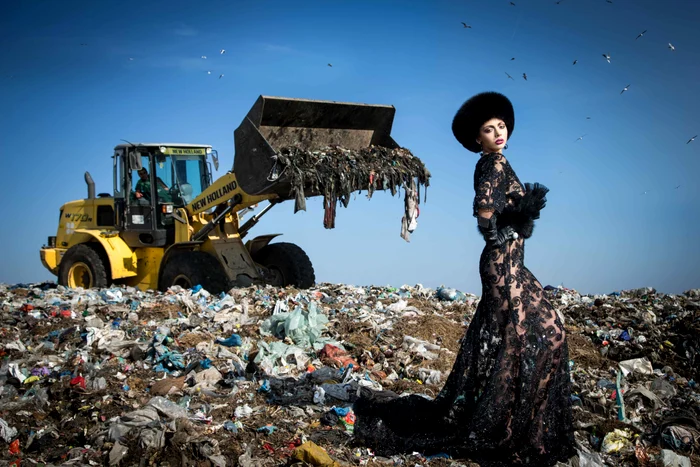
<svg viewBox="0 0 700 467"><path fill-rule="evenodd" d="M700 290L545 293L570 349L567 465L700 465ZM434 397L478 302L421 285L0 285L0 462L476 466L376 456L353 443L352 405Z"/></svg>

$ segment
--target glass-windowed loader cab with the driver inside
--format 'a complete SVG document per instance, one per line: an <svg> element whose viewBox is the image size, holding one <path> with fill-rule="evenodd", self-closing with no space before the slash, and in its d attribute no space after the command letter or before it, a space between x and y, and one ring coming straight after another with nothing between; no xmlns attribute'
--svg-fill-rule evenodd
<svg viewBox="0 0 700 467"><path fill-rule="evenodd" d="M206 145L142 143L115 148L115 221L130 247L174 242L173 212L211 184L207 157L218 165L216 151Z"/></svg>

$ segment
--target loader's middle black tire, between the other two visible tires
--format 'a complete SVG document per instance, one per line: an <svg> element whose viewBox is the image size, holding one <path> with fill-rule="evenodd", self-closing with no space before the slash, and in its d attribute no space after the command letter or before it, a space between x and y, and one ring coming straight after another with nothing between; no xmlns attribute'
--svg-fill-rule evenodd
<svg viewBox="0 0 700 467"><path fill-rule="evenodd" d="M160 280L160 289L165 291L173 285L185 289L201 285L212 294L229 289L228 277L221 264L203 251L182 251L167 260Z"/></svg>

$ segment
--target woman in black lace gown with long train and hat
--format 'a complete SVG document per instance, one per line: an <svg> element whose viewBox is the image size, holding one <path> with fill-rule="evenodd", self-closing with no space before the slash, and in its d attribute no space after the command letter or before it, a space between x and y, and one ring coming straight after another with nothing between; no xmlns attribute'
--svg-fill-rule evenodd
<svg viewBox="0 0 700 467"><path fill-rule="evenodd" d="M523 264L525 238L547 188L520 183L502 154L513 133L510 101L478 94L452 130L472 152L473 214L486 240L482 295L452 372L435 400L390 392L355 403L355 437L379 455L418 451L482 465L554 465L575 455L564 327Z"/></svg>

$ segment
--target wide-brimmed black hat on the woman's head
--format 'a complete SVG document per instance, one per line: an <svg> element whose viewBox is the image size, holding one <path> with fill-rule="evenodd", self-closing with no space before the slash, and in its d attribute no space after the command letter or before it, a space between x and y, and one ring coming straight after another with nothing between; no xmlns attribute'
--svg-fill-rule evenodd
<svg viewBox="0 0 700 467"><path fill-rule="evenodd" d="M459 108L452 120L452 133L462 146L471 152L480 152L481 146L476 142L479 129L492 118L503 120L510 138L515 127L513 104L501 93L482 92L469 98Z"/></svg>

